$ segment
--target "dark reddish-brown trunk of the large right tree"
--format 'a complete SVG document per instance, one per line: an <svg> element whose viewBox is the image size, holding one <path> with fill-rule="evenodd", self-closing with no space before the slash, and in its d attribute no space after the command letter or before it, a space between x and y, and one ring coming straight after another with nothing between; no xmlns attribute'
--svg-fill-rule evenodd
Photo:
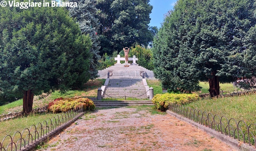
<svg viewBox="0 0 256 151"><path fill-rule="evenodd" d="M215 75L216 73L212 72L212 79L209 79L210 86L210 95L211 97L218 96L220 94L220 80L219 77Z"/></svg>

